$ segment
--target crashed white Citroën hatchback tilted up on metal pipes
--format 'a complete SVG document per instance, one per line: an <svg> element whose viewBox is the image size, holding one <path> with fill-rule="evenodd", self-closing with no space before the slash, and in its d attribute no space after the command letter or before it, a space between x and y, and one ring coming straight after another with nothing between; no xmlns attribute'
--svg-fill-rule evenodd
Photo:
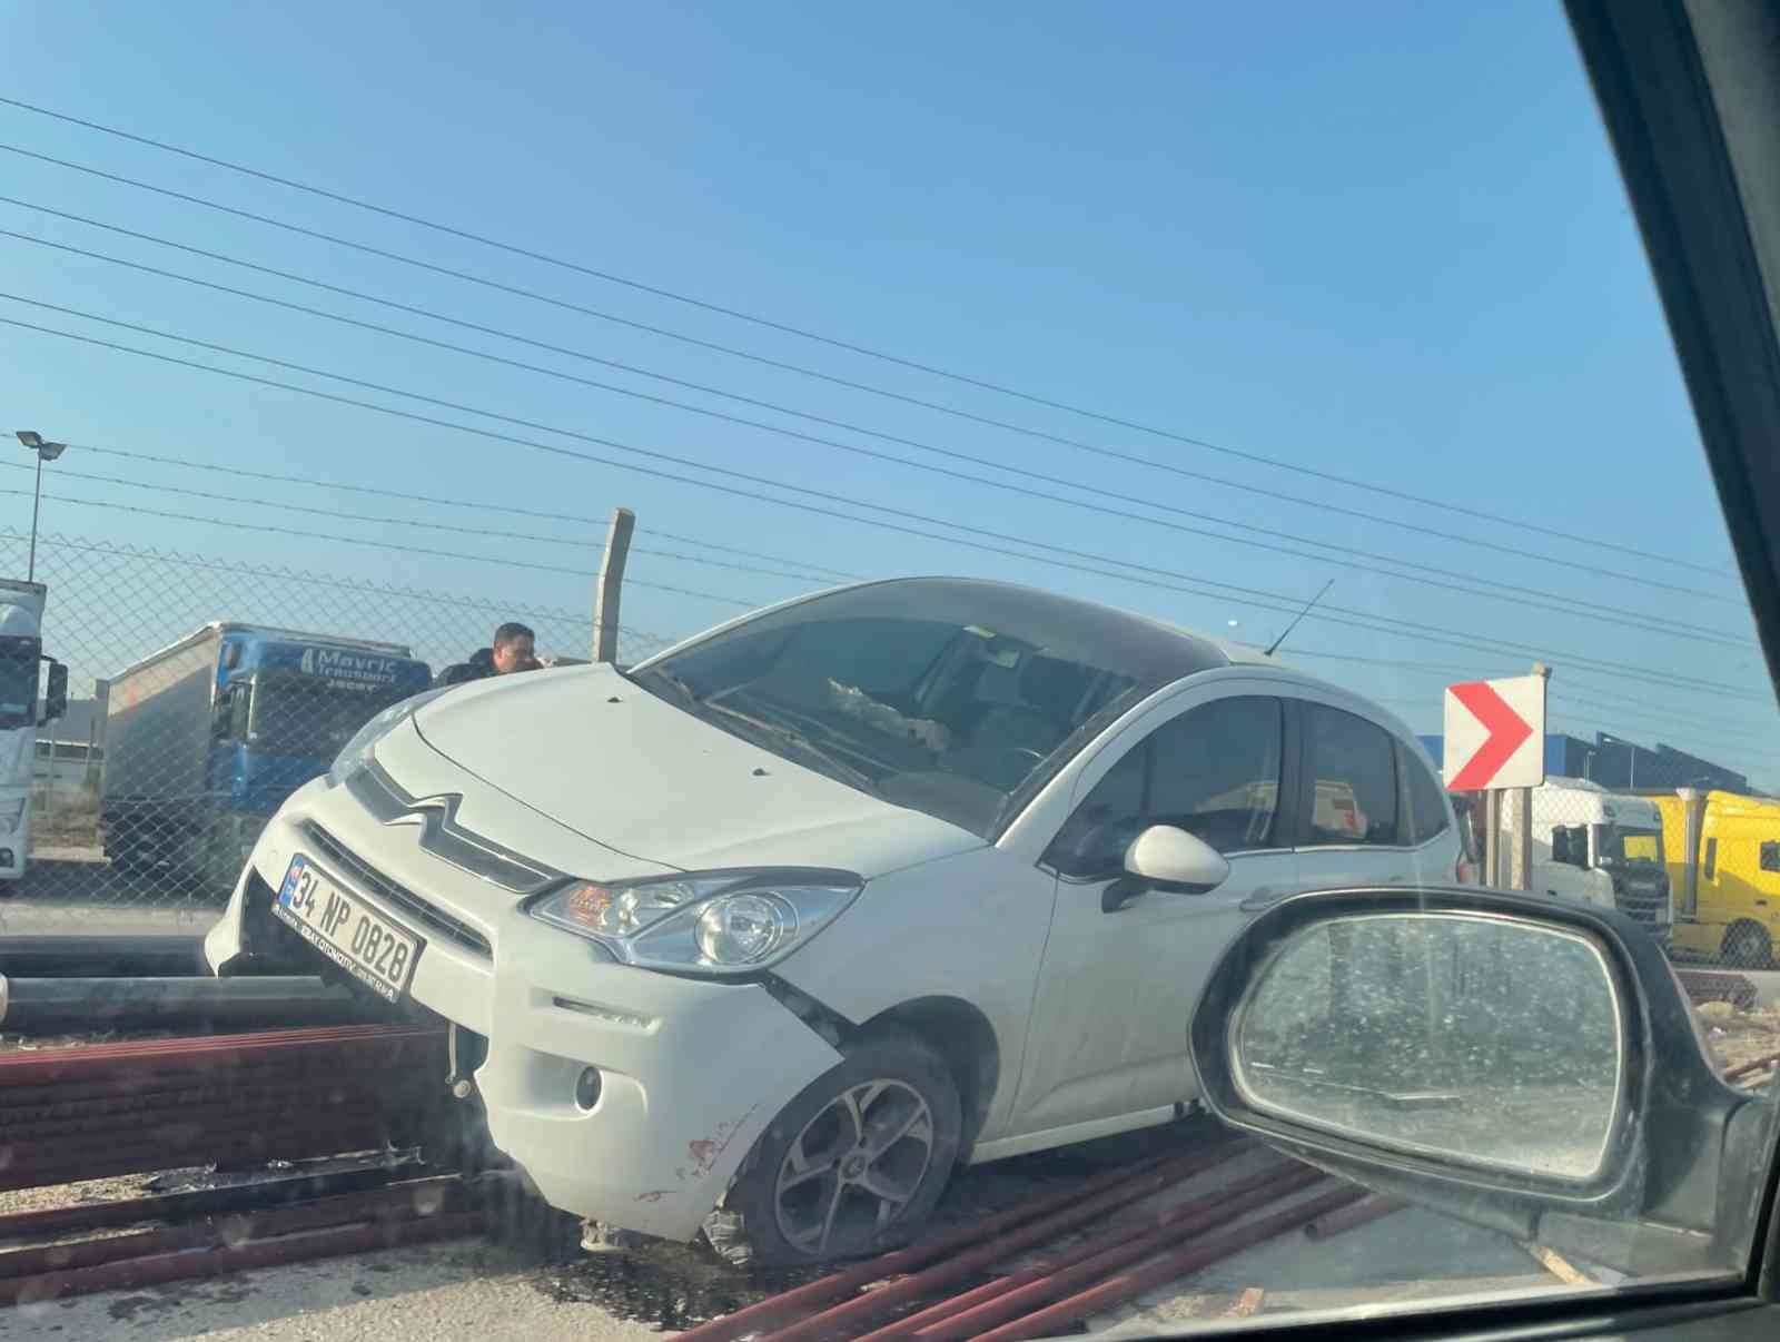
<svg viewBox="0 0 1780 1342"><path fill-rule="evenodd" d="M1365 699L908 578L388 710L265 828L206 952L301 934L454 1023L555 1207L796 1262L899 1235L961 1160L1177 1118L1255 911L1461 860Z"/></svg>

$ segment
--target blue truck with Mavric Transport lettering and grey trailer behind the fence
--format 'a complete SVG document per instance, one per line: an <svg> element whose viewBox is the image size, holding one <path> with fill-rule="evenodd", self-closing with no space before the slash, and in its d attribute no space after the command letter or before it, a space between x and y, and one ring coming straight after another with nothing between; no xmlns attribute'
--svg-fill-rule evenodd
<svg viewBox="0 0 1780 1342"><path fill-rule="evenodd" d="M370 717L427 689L395 643L212 623L110 678L105 856L226 892L260 828Z"/></svg>

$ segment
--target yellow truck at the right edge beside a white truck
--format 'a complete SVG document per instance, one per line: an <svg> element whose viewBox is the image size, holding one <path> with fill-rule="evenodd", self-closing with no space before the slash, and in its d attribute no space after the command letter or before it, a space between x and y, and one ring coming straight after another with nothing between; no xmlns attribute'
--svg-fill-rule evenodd
<svg viewBox="0 0 1780 1342"><path fill-rule="evenodd" d="M1771 966L1780 943L1780 801L1693 788L1654 801L1675 892L1675 950Z"/></svg>

